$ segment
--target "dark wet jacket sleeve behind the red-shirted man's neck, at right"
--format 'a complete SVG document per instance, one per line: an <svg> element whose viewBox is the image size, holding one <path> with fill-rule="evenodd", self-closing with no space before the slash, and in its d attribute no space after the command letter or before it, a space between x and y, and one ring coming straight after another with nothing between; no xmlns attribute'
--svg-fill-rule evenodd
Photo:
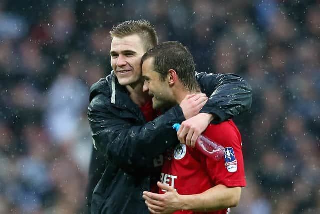
<svg viewBox="0 0 320 214"><path fill-rule="evenodd" d="M248 111L252 103L251 86L236 74L197 73L203 93L210 95L200 112L214 114L219 123Z"/></svg>

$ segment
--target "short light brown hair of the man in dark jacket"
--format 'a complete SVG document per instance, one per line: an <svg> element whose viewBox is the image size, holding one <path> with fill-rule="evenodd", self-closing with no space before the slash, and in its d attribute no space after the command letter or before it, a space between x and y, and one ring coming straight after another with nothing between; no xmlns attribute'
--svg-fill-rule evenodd
<svg viewBox="0 0 320 214"><path fill-rule="evenodd" d="M111 37L125 37L138 34L144 43L145 51L159 43L155 29L147 20L128 20L113 27L110 31Z"/></svg>

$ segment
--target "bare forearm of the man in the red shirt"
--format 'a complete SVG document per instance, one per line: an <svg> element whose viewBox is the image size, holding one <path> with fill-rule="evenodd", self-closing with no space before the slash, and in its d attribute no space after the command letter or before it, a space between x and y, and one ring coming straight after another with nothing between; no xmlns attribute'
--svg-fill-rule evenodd
<svg viewBox="0 0 320 214"><path fill-rule="evenodd" d="M184 210L208 212L237 206L240 195L241 187L217 185L201 194L180 195L180 202Z"/></svg>

